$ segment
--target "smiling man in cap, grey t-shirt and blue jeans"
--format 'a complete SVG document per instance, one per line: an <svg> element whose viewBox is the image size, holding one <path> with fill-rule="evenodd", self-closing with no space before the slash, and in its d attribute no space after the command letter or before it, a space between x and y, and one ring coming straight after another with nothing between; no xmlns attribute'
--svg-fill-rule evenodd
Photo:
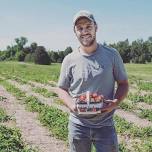
<svg viewBox="0 0 152 152"><path fill-rule="evenodd" d="M128 92L123 61L115 49L97 43L97 23L90 12L78 12L73 25L80 47L65 57L58 82L59 97L70 109L70 152L91 152L92 145L96 152L117 152L112 117ZM100 114L77 112L75 99L87 91L97 92L106 99Z"/></svg>

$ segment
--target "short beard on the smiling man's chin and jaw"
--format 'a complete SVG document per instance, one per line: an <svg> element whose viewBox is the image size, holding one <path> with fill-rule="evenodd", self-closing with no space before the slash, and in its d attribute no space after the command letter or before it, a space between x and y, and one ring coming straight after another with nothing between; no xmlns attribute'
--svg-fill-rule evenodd
<svg viewBox="0 0 152 152"><path fill-rule="evenodd" d="M89 38L78 37L78 40L84 47L89 47L95 42L96 35L90 36Z"/></svg>

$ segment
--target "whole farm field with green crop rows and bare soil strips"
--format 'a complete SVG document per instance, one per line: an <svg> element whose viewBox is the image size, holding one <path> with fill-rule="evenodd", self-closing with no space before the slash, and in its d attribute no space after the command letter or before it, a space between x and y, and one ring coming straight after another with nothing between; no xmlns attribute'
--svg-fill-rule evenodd
<svg viewBox="0 0 152 152"><path fill-rule="evenodd" d="M125 66L130 91L114 116L119 150L152 152L152 64ZM54 93L59 72L60 64L0 62L0 152L67 151L68 109Z"/></svg>

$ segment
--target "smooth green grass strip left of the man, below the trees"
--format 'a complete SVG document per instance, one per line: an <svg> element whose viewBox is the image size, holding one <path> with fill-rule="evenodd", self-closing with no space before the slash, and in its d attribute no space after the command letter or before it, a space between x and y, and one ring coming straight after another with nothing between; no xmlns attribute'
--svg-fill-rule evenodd
<svg viewBox="0 0 152 152"><path fill-rule="evenodd" d="M57 81L60 64L35 65L20 62L0 62L0 74L4 77L12 76L26 81L47 83L49 80Z"/></svg>

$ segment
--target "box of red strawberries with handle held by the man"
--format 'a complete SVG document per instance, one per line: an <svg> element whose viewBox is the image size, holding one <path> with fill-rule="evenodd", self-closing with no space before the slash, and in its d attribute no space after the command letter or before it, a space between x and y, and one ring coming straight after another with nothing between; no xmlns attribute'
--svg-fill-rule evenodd
<svg viewBox="0 0 152 152"><path fill-rule="evenodd" d="M78 114L98 114L101 113L103 107L104 96L97 93L90 93L80 95L76 101Z"/></svg>

